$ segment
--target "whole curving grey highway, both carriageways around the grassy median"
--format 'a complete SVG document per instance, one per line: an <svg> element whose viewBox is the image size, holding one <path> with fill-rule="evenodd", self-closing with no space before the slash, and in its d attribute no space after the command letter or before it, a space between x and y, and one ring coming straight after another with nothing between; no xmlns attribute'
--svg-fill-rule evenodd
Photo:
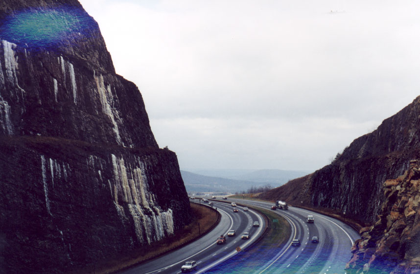
<svg viewBox="0 0 420 274"><path fill-rule="evenodd" d="M198 199L191 202L200 202ZM350 248L360 236L353 228L334 218L285 204L240 199L211 199L203 204L216 207L220 223L205 236L187 246L122 271L124 274L241 273L343 273ZM200 202L200 203L201 203ZM281 201L278 201L281 202ZM266 223L255 209L273 210L291 226L287 243L262 253L258 244ZM253 268L241 269L240 252L255 252ZM247 259L249 264L249 258ZM252 260L252 259L251 259ZM252 263L252 262L251 262Z"/></svg>

